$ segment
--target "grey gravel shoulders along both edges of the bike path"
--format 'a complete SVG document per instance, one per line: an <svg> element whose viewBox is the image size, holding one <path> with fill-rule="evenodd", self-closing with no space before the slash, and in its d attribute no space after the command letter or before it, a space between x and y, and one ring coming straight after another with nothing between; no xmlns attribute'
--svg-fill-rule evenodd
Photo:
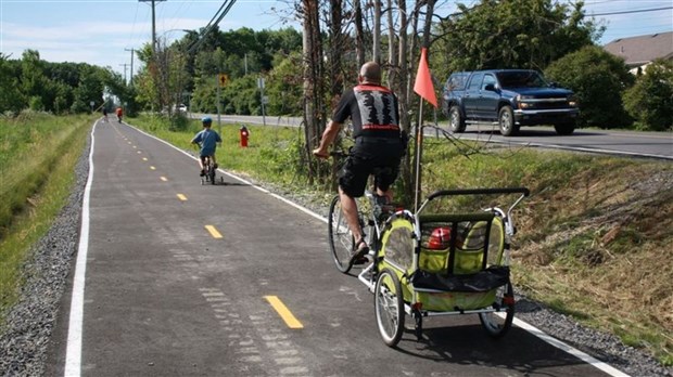
<svg viewBox="0 0 673 377"><path fill-rule="evenodd" d="M0 376L42 376L54 325L58 321L67 321L60 314L59 304L77 252L89 146L90 142L77 164L77 180L67 205L24 265L26 285L21 290L20 301L7 315L5 326L0 329ZM282 187L245 179L327 216L328 208L321 204L321 198L295 195ZM522 295L518 297L517 317L632 376L673 377L672 367L664 367L650 355L624 346L617 337L585 328Z"/></svg>

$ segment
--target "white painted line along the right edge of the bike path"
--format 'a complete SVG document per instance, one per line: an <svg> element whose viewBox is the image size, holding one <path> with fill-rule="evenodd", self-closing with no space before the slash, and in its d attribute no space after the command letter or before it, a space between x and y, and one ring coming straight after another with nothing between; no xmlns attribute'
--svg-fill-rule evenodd
<svg viewBox="0 0 673 377"><path fill-rule="evenodd" d="M130 125L127 125L127 123L125 123L125 125L134 128L136 131L138 131L140 133L143 133L143 134L145 134L145 135L148 135L148 136L150 136L152 139L155 139L155 140L157 140L157 141L160 141L160 142L162 142L162 143L164 143L164 144L166 144L166 145L168 145L168 146L170 146L170 147L173 147L173 148L183 153L185 155L193 158L194 160L196 159L196 157L194 157L194 156L190 155L189 153L180 150L179 147L177 147L177 146L166 142L165 140L158 139L158 138L156 138L156 136L154 136L152 134L149 134L149 133L147 133L147 132L144 132L144 131L142 131L140 129L137 129L136 127L132 127ZM93 151L93 146L91 147L91 150ZM259 190L261 192L263 192L265 194L268 194L268 195L270 195L270 196L272 196L272 197L275 197L275 198L277 198L277 199L279 199L279 200L281 200L283 203L287 203L290 206L301 210L302 212L307 213L307 214L309 214L309 216L312 216L312 217L314 217L314 218L316 218L316 219L318 219L318 220L320 220L320 221L322 221L325 223L327 223L327 221L328 221L326 218L323 218L320 214L312 211L310 209L302 207L301 205L299 205L299 204L296 204L294 202L291 202L289 199L285 199L284 197L282 197L280 195L274 194L274 193L269 192L268 190L266 190L264 187L259 187L259 186L255 185L252 182L249 182L249 181L246 181L246 180L244 180L244 179L242 179L240 177L233 176L233 174L231 174L229 172L226 172L226 171L224 171L221 169L217 169L217 170L221 171L223 173L225 173L225 174L227 174L227 176L229 176L229 177L231 177L231 178L233 178L236 180L239 180L239 181L241 181L241 182L243 182L245 184L249 184L250 186L255 187L255 188ZM78 259L78 261L79 261L79 259ZM593 356L591 356L591 355L588 355L588 354L586 354L586 353L584 353L584 352L582 352L582 351L580 351L580 350L577 350L577 349L575 349L575 348L573 348L573 347L571 347L571 346L569 346L569 344L567 344L567 343L564 343L564 342L562 342L562 341L560 341L560 340L558 340L556 338L554 338L554 337L551 337L550 335L545 334L543 330L538 329L537 327L535 327L533 325L530 325L526 322L523 322L523 321L521 321L519 318L515 318L513 324L517 325L518 327L524 329L525 332L531 333L532 335L536 336L537 338L544 340L545 342L547 342L547 343L549 343L549 344L551 344L551 346L554 346L554 347L556 347L556 348L558 348L560 350L562 350L562 351L566 351L566 352L572 354L573 356L582 360L583 362L585 362L585 363L587 363L587 364L589 364L589 365L592 365L592 366L594 366L594 367L596 367L596 368L607 373L610 376L613 376L613 377L628 377L627 374L625 374L625 373L623 373L623 372L621 372L621 370L619 370L619 369L617 369L617 368L614 368L614 367L612 367L612 366L610 366L610 365L608 365L608 364L606 364L606 363L604 363L604 362L601 362L601 361L599 361L599 360L597 360L597 359L595 359L595 358L593 358Z"/></svg>

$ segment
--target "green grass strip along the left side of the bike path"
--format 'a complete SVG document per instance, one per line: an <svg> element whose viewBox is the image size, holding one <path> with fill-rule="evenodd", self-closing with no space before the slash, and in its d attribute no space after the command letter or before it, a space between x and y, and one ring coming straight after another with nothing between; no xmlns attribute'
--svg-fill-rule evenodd
<svg viewBox="0 0 673 377"><path fill-rule="evenodd" d="M0 323L24 282L22 265L72 192L92 119L23 115L0 119Z"/></svg>

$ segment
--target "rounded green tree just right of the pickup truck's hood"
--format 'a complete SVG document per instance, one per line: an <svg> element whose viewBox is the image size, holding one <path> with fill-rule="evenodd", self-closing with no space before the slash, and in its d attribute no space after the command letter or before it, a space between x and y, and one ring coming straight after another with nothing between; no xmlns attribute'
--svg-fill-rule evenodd
<svg viewBox="0 0 673 377"><path fill-rule="evenodd" d="M575 92L580 126L609 129L631 123L621 93L633 83L633 76L622 58L589 46L554 62L545 75Z"/></svg>

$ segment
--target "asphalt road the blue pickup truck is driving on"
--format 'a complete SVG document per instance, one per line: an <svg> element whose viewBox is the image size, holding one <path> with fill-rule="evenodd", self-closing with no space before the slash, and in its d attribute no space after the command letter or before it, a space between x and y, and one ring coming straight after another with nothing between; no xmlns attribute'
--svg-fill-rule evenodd
<svg viewBox="0 0 673 377"><path fill-rule="evenodd" d="M194 115L199 117L200 115ZM214 116L217 120L217 116ZM296 117L259 117L224 115L221 122L250 122L266 126L297 127L302 119ZM447 130L447 126L440 123ZM427 135L436 134L427 130ZM483 143L509 145L512 148L521 146L567 150L609 155L647 157L673 160L673 132L636 132L615 130L577 129L572 135L561 136L554 127L521 127L516 136L500 135L497 126L468 125L466 132L454 135L457 139L477 140Z"/></svg>

